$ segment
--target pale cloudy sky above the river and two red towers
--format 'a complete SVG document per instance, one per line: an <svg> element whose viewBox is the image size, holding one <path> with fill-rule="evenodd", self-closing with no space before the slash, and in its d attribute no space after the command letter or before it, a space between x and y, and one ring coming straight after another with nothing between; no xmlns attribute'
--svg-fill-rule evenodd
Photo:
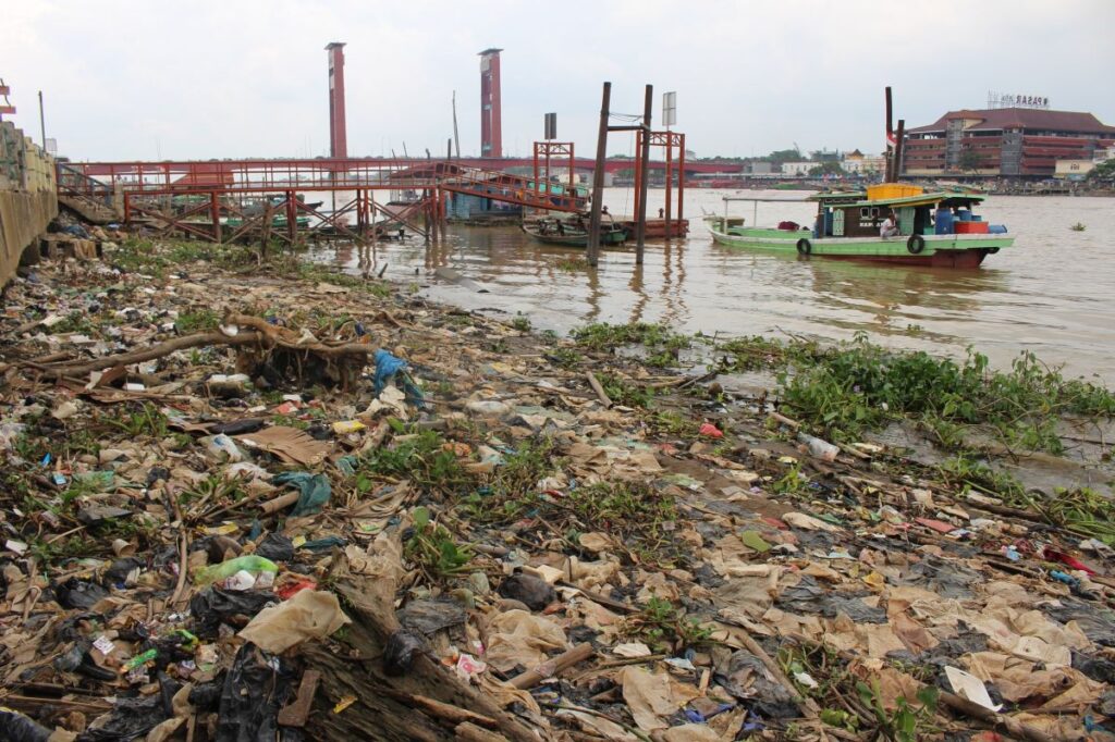
<svg viewBox="0 0 1115 742"><path fill-rule="evenodd" d="M1113 0L31 0L4 3L0 77L14 120L72 159L328 154L324 46L346 41L352 156L445 150L457 91L462 154L479 152L476 52L502 47L504 152L530 155L545 111L595 148L600 85L638 113L678 92L698 156L792 147L879 152L895 118L982 108L989 89L1041 95L1115 124ZM629 153L613 135L609 154Z"/></svg>

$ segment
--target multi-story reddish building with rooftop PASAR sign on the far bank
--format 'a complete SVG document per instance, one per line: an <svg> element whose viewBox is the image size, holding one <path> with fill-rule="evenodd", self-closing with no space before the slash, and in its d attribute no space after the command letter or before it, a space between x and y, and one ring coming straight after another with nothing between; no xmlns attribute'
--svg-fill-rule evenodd
<svg viewBox="0 0 1115 742"><path fill-rule="evenodd" d="M1092 159L1115 126L1092 114L1036 108L949 111L906 130L905 175L1053 177L1059 159Z"/></svg>

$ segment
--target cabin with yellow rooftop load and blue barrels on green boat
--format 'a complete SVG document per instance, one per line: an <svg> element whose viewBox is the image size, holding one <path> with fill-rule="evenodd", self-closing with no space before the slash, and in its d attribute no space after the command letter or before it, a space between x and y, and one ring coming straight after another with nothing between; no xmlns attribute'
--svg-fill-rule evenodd
<svg viewBox="0 0 1115 742"><path fill-rule="evenodd" d="M925 192L919 186L884 183L866 192L817 194L813 237L879 236L891 214L900 235L999 234L1007 228L989 225L972 213L985 196L970 191Z"/></svg>

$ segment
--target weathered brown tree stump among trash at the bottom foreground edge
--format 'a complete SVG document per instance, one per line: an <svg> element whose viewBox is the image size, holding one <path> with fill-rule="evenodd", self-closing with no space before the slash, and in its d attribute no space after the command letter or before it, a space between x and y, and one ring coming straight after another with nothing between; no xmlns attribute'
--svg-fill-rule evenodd
<svg viewBox="0 0 1115 742"><path fill-rule="evenodd" d="M493 734L511 742L543 739L424 653L416 654L401 675L388 672L384 654L399 629L394 606L401 565L390 549L376 555L374 563L377 574L368 574L368 565L363 574L352 574L346 556L334 553L329 578L352 623L339 646L311 643L302 648L307 667L321 673L307 735L360 740L375 730L375 736L385 740L500 739ZM346 696L357 700L333 713L333 704ZM488 736L479 735L481 730Z"/></svg>

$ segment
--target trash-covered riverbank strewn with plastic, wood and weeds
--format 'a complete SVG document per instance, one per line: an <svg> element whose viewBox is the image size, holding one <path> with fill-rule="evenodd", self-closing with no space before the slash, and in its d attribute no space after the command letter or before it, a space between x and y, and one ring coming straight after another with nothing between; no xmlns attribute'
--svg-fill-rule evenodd
<svg viewBox="0 0 1115 742"><path fill-rule="evenodd" d="M221 265L7 289L0 739L1115 739L1107 543L715 373Z"/></svg>

